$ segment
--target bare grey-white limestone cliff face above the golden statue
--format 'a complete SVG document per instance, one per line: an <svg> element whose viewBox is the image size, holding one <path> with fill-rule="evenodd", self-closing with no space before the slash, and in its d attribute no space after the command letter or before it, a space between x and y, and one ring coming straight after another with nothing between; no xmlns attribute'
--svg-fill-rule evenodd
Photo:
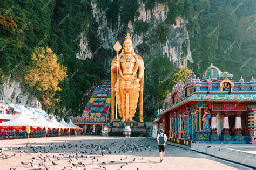
<svg viewBox="0 0 256 170"><path fill-rule="evenodd" d="M167 13L169 12L167 4L156 3L154 8L150 10L145 8L144 3L139 2L139 15L134 18L134 22L143 21L150 24L149 29L144 33L136 31L134 22L132 23L129 21L128 23L122 23L120 21L120 13L117 16L117 26L113 27L111 20L106 18L106 9L99 8L99 5L95 1L92 1L91 5L93 17L99 25L96 32L97 38L100 41L100 44L102 44L100 48L107 51L108 55L105 56L105 67L109 67L111 59L113 58L114 43L118 39L123 39L126 32L130 33L132 36L133 46L136 53L138 53L136 48L140 44L145 43L149 46L150 51L147 54L142 54L144 57L146 55L167 55L170 58L170 61L173 62L173 65L177 67L180 65L187 66L188 61L193 62L190 50L190 39L185 26L186 21L181 17L176 18L175 25L168 25L169 29L164 43L159 43L157 41L155 44L152 44L149 40L145 40L145 38L151 37L152 34L156 34L154 32L159 24L164 23ZM123 32L123 30L126 31ZM85 53L85 49L88 51L87 53ZM80 51L78 51L76 55L77 58L91 58L95 53L97 52L90 52L89 44L84 35L80 41Z"/></svg>

